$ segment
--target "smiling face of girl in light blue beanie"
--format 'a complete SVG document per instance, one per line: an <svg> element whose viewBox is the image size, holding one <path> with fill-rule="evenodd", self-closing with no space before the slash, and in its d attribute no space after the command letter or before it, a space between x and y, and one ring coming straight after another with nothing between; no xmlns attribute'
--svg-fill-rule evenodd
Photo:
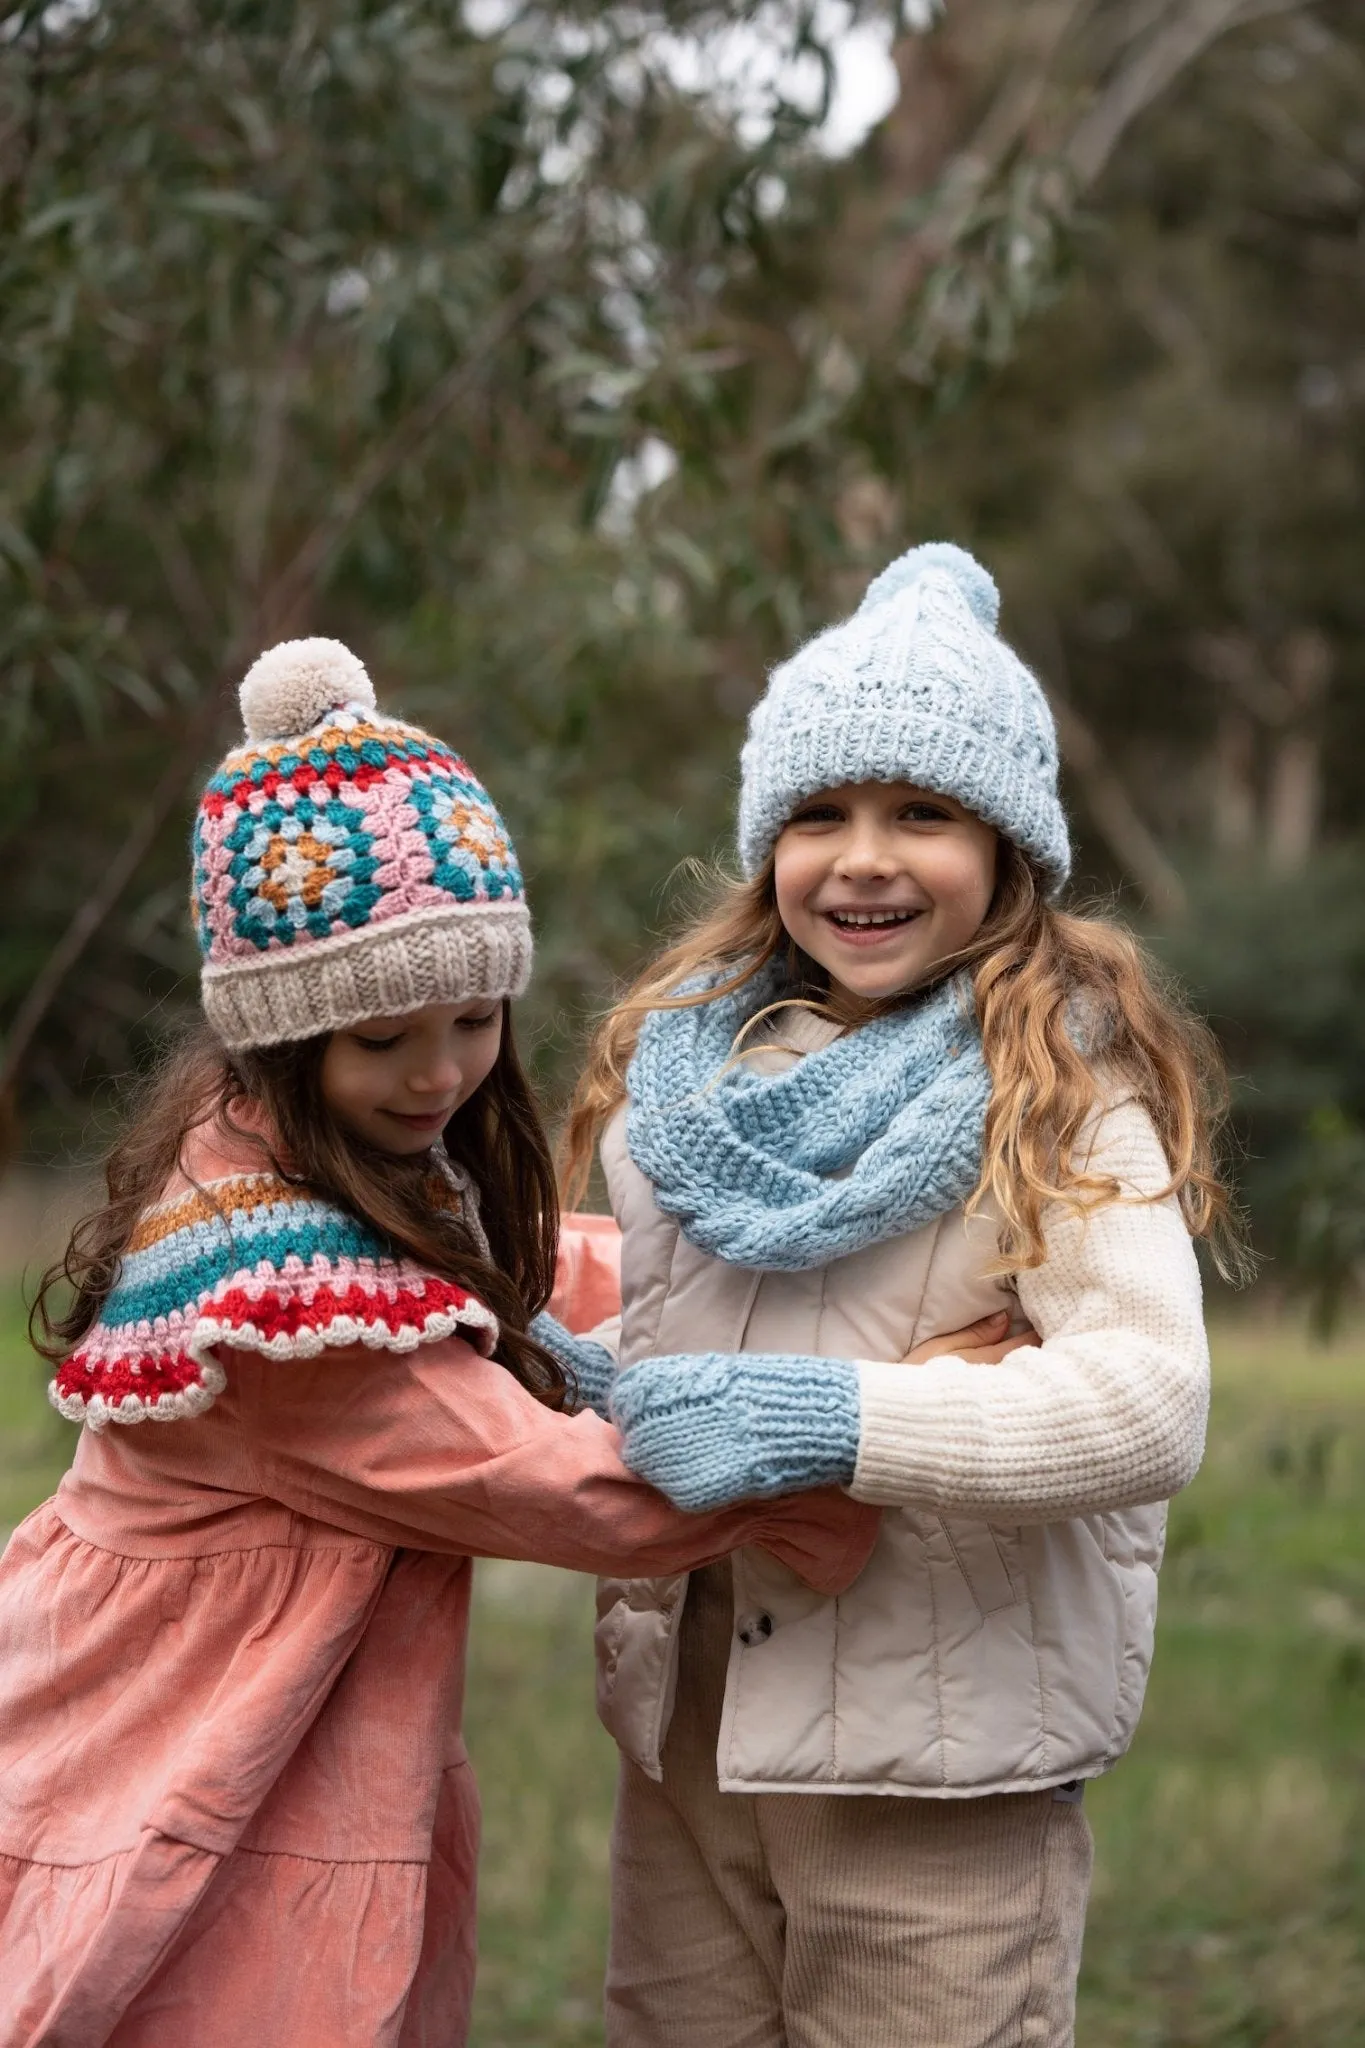
<svg viewBox="0 0 1365 2048"><path fill-rule="evenodd" d="M825 788L778 840L778 913L835 989L902 995L980 930L995 848L993 825L913 782Z"/></svg>

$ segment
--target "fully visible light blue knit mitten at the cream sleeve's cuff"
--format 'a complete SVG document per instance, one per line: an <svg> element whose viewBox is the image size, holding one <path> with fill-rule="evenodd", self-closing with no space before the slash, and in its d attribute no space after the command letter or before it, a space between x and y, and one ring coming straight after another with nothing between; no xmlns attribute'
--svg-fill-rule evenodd
<svg viewBox="0 0 1365 2048"><path fill-rule="evenodd" d="M847 1485L857 1464L857 1368L780 1352L645 1358L612 1389L622 1458L692 1513Z"/></svg>

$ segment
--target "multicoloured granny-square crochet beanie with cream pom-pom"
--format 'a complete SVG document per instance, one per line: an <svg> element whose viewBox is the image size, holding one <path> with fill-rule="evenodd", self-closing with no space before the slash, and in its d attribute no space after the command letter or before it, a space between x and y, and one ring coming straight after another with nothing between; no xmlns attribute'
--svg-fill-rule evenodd
<svg viewBox="0 0 1365 2048"><path fill-rule="evenodd" d="M522 872L458 754L383 717L332 639L262 653L241 717L192 850L201 993L225 1047L522 993Z"/></svg>

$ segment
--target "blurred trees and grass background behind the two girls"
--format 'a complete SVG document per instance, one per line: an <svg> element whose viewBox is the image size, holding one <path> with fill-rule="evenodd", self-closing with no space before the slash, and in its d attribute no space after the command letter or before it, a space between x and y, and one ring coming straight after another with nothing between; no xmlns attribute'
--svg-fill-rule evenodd
<svg viewBox="0 0 1365 2048"><path fill-rule="evenodd" d="M0 1522L65 1456L16 1274L192 1001L250 657L348 639L489 780L555 1110L765 668L958 539L1263 1255L1081 2038L1365 2042L1363 250L1359 0L0 0ZM481 1581L477 2040L585 2044L587 1589Z"/></svg>

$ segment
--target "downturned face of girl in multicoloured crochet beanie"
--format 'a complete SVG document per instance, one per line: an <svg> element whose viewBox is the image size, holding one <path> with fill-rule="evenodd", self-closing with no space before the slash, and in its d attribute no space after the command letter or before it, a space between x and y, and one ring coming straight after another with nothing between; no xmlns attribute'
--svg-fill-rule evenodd
<svg viewBox="0 0 1365 2048"><path fill-rule="evenodd" d="M321 1061L323 1102L379 1151L426 1151L489 1077L501 1018L501 1004L479 997L336 1030Z"/></svg>

